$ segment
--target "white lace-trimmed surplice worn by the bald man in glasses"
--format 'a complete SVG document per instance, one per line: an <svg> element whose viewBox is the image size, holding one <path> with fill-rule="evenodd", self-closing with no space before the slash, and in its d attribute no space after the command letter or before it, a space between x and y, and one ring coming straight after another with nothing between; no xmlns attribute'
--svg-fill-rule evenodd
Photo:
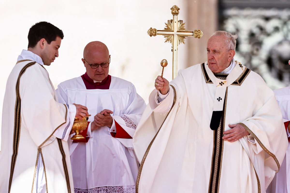
<svg viewBox="0 0 290 193"><path fill-rule="evenodd" d="M136 125L146 107L131 82L111 77L109 89L86 89L81 77L59 84L59 100L82 104L92 116L103 109L113 111L113 125L91 132L88 125L87 143L70 146L73 180L76 193L83 192L135 192L139 163L133 151L132 139L114 138L115 121L133 137Z"/></svg>

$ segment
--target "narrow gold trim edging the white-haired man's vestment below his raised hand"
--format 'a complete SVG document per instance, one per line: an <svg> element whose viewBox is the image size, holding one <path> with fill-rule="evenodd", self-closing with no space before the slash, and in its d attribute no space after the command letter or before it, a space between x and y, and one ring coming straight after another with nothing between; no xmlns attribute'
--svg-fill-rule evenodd
<svg viewBox="0 0 290 193"><path fill-rule="evenodd" d="M147 157L147 155L148 155L148 153L149 153L149 150L150 150L150 148L151 148L151 146L152 146L152 144L153 144L155 138L157 137L157 135L158 135L160 129L162 128L162 126L163 126L163 124L164 124L166 118L168 117L169 113L170 113L171 110L173 109L173 106L175 105L175 102L176 102L176 90L175 90L175 88L174 88L172 85L170 85L170 86L173 88L173 91L174 91L173 104L172 104L171 109L169 110L168 114L166 115L164 121L162 122L160 128L158 129L157 133L155 134L155 136L154 136L153 139L151 140L150 144L148 145L148 147L147 147L147 149L146 149L146 151L145 151L145 154L144 154L144 156L143 156L143 158L142 158L142 161L141 161L141 164L140 164L140 167L139 167L139 171L138 171L138 175L137 175L137 179L136 179L136 193L138 193L139 181L140 181L141 172L142 172L142 169L143 169L143 165L144 165L145 159L146 159L146 157Z"/></svg>

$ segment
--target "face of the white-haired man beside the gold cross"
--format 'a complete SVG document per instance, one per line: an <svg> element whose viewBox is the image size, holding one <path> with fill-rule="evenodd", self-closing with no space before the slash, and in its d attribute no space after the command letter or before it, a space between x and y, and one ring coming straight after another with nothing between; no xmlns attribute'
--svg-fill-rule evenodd
<svg viewBox="0 0 290 193"><path fill-rule="evenodd" d="M231 64L235 51L228 50L225 36L211 36L207 41L207 64L214 73L224 71Z"/></svg>

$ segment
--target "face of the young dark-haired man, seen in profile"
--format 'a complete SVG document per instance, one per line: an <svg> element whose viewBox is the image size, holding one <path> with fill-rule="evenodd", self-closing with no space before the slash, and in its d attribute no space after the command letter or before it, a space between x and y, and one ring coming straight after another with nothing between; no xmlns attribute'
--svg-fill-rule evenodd
<svg viewBox="0 0 290 193"><path fill-rule="evenodd" d="M56 37L55 41L50 42L48 44L46 41L44 42L44 50L41 53L41 59L44 65L50 65L56 57L58 57L58 49L60 47L61 38Z"/></svg>

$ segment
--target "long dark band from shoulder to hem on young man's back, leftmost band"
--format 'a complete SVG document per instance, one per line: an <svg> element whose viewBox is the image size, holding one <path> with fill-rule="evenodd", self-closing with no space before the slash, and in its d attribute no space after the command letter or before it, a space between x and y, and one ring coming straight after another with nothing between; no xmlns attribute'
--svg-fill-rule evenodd
<svg viewBox="0 0 290 193"><path fill-rule="evenodd" d="M26 60L23 60L26 61ZM12 185L12 179L14 174L14 168L16 164L16 158L18 154L18 146L19 146L19 139L20 139L20 129L21 129L21 98L19 93L19 84L20 84L20 78L23 75L23 73L26 71L27 68L34 65L36 62L30 62L27 65L25 65L17 78L16 82L16 101L15 101L15 114L14 114L14 133L13 133L13 153L11 157L11 166L10 166L10 177L9 177L9 185L8 185L8 193L10 193L11 185Z"/></svg>

